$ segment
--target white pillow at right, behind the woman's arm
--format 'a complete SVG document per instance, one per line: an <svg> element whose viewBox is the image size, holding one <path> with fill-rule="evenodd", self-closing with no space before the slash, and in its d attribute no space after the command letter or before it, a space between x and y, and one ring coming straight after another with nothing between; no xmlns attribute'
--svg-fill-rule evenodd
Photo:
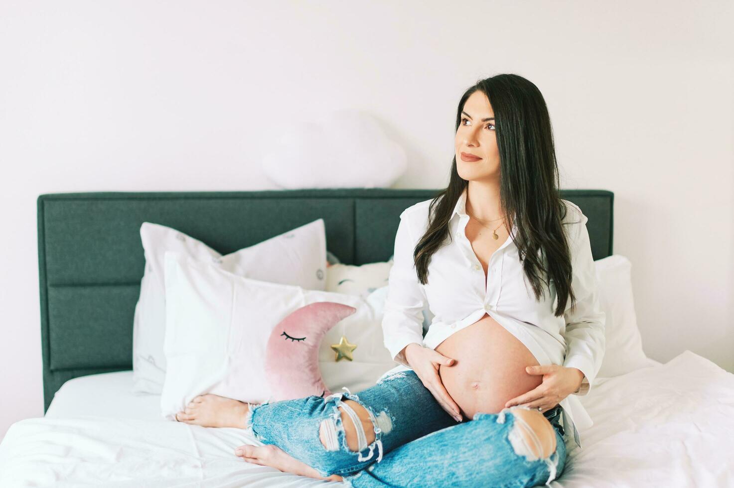
<svg viewBox="0 0 734 488"><path fill-rule="evenodd" d="M597 377L620 376L650 366L632 294L632 263L622 255L595 261L599 302L606 313L606 348Z"/></svg>

